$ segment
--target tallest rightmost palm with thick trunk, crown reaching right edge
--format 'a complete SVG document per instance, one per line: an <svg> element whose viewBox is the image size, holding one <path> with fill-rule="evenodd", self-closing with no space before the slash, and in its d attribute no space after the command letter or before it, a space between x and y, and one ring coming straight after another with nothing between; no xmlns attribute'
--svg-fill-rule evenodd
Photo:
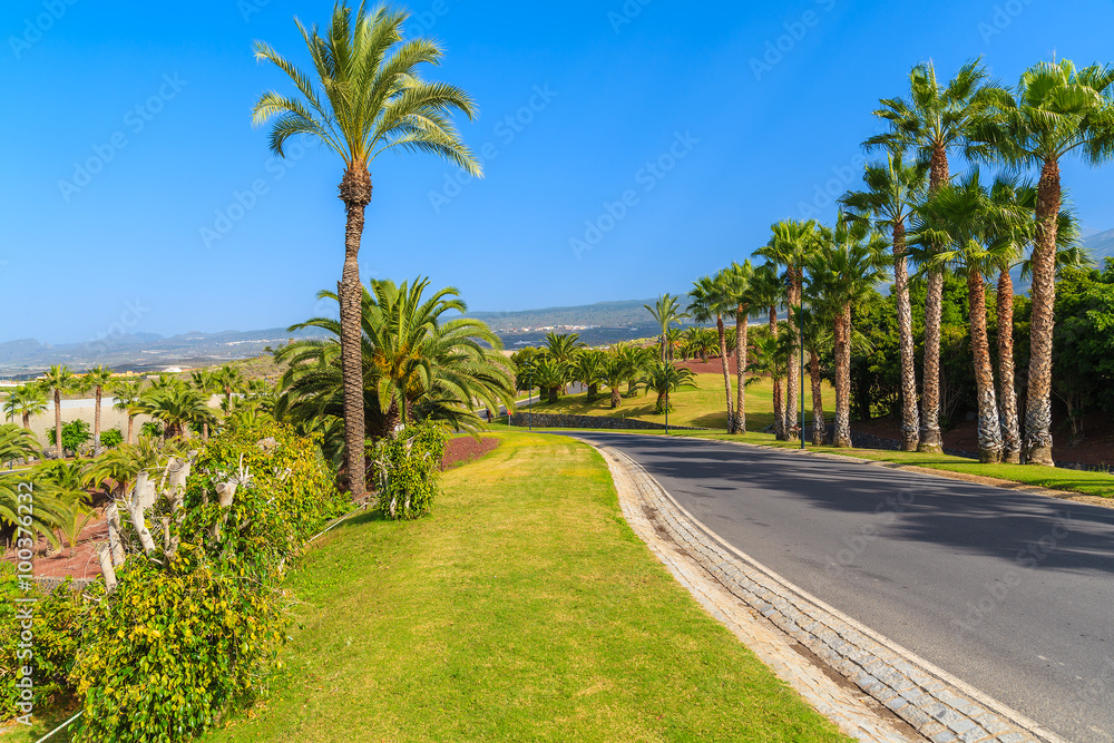
<svg viewBox="0 0 1114 743"><path fill-rule="evenodd" d="M991 89L988 96L989 105L973 126L968 155L1040 169L1029 292L1033 316L1024 449L1028 462L1052 466L1059 163L1071 154L1091 165L1114 159L1114 68L1092 65L1077 70L1067 59L1040 62L1022 75L1013 91Z"/></svg>

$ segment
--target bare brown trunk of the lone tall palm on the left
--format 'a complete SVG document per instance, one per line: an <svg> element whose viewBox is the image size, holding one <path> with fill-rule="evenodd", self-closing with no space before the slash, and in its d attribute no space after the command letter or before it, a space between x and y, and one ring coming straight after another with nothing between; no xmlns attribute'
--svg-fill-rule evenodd
<svg viewBox="0 0 1114 743"><path fill-rule="evenodd" d="M353 163L340 185L346 224L344 231L344 271L338 286L341 309L341 370L344 379L344 463L352 498L367 489L364 465L363 285L360 283L360 239L364 211L371 203L371 174L364 163Z"/></svg>

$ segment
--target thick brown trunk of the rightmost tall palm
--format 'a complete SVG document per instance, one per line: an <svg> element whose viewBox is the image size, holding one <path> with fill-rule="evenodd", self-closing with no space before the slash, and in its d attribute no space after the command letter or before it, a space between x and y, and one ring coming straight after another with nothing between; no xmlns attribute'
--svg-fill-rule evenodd
<svg viewBox="0 0 1114 743"><path fill-rule="evenodd" d="M1029 330L1029 389L1025 400L1025 459L1053 465L1052 334L1056 303L1056 219L1059 216L1059 165L1046 160L1037 183L1037 239L1033 246L1033 321Z"/></svg>

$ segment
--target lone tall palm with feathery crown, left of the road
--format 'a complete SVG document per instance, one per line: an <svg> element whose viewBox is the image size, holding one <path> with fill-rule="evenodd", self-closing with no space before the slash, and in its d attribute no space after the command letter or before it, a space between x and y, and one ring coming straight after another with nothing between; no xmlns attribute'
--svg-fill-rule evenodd
<svg viewBox="0 0 1114 743"><path fill-rule="evenodd" d="M422 78L420 68L437 66L442 49L429 39L403 40L409 14L388 8L365 12L361 2L354 17L344 2L333 9L322 35L316 26L299 31L313 60L313 76L295 68L262 41L255 56L286 74L301 94L290 98L276 91L255 104L256 126L271 119L271 150L285 156L291 137L312 137L344 163L340 197L346 212L344 268L340 295L341 365L344 377L344 437L349 490L354 498L367 487L364 468L364 387L361 324L363 287L360 283L360 241L364 212L371 203L371 163L384 151L437 155L480 177L479 162L461 141L451 116L469 119L477 114L462 89ZM314 85L316 82L316 85Z"/></svg>

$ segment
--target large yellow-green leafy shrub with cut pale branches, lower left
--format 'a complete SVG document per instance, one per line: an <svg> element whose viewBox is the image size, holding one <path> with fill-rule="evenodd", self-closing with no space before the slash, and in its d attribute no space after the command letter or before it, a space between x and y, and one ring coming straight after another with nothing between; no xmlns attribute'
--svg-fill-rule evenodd
<svg viewBox="0 0 1114 743"><path fill-rule="evenodd" d="M231 479L222 509L214 486ZM242 423L212 439L172 519L178 551L130 555L90 612L72 674L85 700L75 740L188 740L261 693L285 637L285 569L346 506L316 442L290 427ZM167 512L160 501L150 518Z"/></svg>

